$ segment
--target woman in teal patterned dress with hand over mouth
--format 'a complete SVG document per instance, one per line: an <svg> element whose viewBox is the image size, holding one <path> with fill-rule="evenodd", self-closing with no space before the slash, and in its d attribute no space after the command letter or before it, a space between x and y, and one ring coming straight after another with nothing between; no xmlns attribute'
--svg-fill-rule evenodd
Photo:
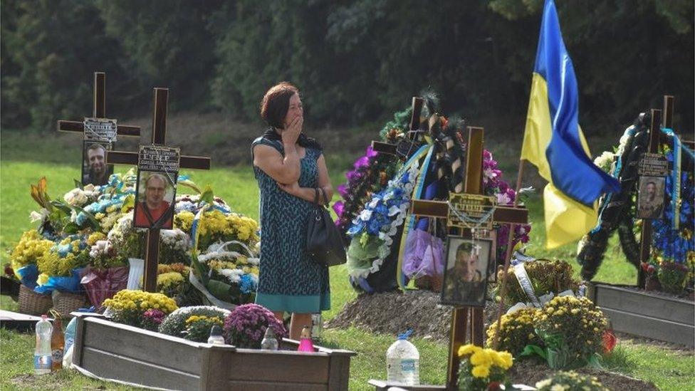
<svg viewBox="0 0 695 391"><path fill-rule="evenodd" d="M306 254L305 226L315 208L316 189L325 204L333 187L321 146L302 133L302 101L294 85L283 82L268 90L261 117L270 128L251 146L261 189L256 303L280 320L285 311L292 313L290 338L299 340L303 326L311 325L311 314L330 309L328 267Z"/></svg>

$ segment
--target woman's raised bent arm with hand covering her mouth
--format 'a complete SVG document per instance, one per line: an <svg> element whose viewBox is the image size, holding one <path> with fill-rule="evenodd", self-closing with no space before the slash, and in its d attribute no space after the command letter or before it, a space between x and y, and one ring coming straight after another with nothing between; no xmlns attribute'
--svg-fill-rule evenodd
<svg viewBox="0 0 695 391"><path fill-rule="evenodd" d="M295 118L282 132L285 156L268 145L254 147L254 165L280 183L293 183L299 180L301 173L299 153L295 146L302 130L303 119Z"/></svg>

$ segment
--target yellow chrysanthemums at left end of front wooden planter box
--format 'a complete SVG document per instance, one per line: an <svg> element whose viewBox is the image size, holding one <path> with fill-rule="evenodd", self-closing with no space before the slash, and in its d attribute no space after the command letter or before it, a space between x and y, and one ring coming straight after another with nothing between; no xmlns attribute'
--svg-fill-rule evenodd
<svg viewBox="0 0 695 391"><path fill-rule="evenodd" d="M115 322L140 328L152 327L152 318L157 313L150 312L145 317L148 310L159 310L166 315L178 308L174 299L168 298L162 293L131 291L129 289L116 293L113 298L106 299L103 304Z"/></svg>

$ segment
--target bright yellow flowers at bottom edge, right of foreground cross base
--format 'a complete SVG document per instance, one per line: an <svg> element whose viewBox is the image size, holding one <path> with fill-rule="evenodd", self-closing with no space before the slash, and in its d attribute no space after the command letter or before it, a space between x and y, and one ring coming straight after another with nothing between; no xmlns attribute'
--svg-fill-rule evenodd
<svg viewBox="0 0 695 391"><path fill-rule="evenodd" d="M514 359L508 352L498 352L468 344L459 348L459 390L496 390L500 385L511 389L506 373Z"/></svg>

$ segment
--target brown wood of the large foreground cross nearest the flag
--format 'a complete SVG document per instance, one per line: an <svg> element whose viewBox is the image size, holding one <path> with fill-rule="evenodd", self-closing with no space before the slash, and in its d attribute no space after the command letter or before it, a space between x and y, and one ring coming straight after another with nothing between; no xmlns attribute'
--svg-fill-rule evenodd
<svg viewBox="0 0 695 391"><path fill-rule="evenodd" d="M483 133L482 127L468 127L469 137L466 154L466 177L464 193L483 194ZM413 199L410 207L411 214L422 217L446 219L449 215L448 202L426 201ZM521 207L496 207L492 220L503 224L526 224L528 210ZM451 229L450 234L456 234L457 229ZM513 229L509 232L513 235ZM449 365L446 372L447 389L455 389L459 377L459 347L466 342L466 328L469 325L469 335L472 343L483 345L483 308L462 307L454 308L451 313L451 338L449 344Z"/></svg>

